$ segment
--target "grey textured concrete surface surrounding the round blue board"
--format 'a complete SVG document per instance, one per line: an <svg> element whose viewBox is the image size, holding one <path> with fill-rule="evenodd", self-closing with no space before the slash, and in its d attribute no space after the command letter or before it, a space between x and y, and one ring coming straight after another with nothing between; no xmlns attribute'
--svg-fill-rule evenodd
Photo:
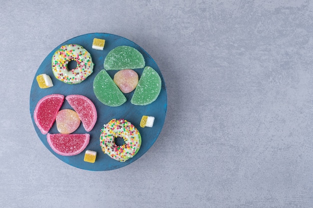
<svg viewBox="0 0 313 208"><path fill-rule="evenodd" d="M313 3L0 3L1 208L312 208ZM107 32L144 48L167 86L164 128L134 163L73 168L42 145L29 92L63 41Z"/></svg>

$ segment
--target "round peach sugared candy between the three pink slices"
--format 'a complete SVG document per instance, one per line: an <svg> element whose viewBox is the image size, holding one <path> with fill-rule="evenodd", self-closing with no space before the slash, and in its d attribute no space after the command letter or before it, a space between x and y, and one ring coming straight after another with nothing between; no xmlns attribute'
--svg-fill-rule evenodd
<svg viewBox="0 0 313 208"><path fill-rule="evenodd" d="M55 117L56 129L61 134L70 134L78 129L80 119L78 114L70 109L63 109L57 112Z"/></svg>

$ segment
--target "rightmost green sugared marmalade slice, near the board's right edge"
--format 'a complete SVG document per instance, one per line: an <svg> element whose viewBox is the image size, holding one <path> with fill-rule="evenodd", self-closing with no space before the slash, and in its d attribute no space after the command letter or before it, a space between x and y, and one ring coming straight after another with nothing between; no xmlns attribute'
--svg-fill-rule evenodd
<svg viewBox="0 0 313 208"><path fill-rule="evenodd" d="M146 66L143 69L130 102L134 105L148 105L156 100L160 91L160 76L153 68Z"/></svg>

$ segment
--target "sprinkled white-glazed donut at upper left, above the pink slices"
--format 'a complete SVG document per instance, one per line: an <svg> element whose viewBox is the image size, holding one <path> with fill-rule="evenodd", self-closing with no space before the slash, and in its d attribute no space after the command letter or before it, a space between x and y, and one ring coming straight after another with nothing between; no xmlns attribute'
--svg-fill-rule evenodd
<svg viewBox="0 0 313 208"><path fill-rule="evenodd" d="M76 61L77 66L71 70L69 61ZM85 80L93 70L90 53L81 45L62 45L52 56L52 72L56 79L66 84L78 84Z"/></svg>

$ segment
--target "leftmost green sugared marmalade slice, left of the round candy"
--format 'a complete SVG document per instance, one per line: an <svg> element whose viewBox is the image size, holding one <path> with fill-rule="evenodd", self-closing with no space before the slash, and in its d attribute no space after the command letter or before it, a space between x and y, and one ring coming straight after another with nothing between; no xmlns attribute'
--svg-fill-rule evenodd
<svg viewBox="0 0 313 208"><path fill-rule="evenodd" d="M104 69L93 80L93 92L104 105L116 107L126 102L125 96Z"/></svg>

